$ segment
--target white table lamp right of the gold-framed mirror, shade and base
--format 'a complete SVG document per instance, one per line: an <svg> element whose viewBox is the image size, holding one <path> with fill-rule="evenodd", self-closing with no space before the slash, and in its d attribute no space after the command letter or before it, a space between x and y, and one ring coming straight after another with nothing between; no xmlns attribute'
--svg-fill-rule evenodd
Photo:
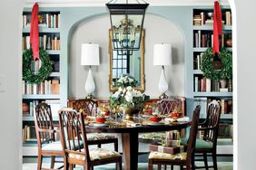
<svg viewBox="0 0 256 170"><path fill-rule="evenodd" d="M168 83L164 76L164 65L172 64L172 45L168 43L155 44L153 46L153 65L161 65L162 71L158 83L161 91L160 99L168 98L165 92L168 90Z"/></svg>

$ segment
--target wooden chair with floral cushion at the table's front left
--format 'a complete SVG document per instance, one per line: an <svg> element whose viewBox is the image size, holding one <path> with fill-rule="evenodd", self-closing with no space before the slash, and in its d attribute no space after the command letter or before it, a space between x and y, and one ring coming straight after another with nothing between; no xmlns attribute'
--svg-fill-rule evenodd
<svg viewBox="0 0 256 170"><path fill-rule="evenodd" d="M104 148L88 148L83 112L71 108L60 109L59 124L64 152L64 170L68 168L71 170L74 165L83 165L84 170L92 170L94 165L111 163L115 163L117 169L122 170L122 156L118 152ZM72 147L82 143L83 146Z"/></svg>

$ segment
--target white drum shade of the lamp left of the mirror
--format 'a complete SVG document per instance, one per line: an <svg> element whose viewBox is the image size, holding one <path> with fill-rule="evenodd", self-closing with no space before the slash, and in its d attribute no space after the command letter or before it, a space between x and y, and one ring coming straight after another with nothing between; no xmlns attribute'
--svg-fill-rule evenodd
<svg viewBox="0 0 256 170"><path fill-rule="evenodd" d="M100 65L99 44L82 44L81 65Z"/></svg>

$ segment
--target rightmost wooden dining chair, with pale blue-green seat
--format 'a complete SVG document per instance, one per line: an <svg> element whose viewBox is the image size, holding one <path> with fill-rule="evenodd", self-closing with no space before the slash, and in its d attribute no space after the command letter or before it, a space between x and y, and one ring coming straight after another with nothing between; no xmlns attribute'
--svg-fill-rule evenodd
<svg viewBox="0 0 256 170"><path fill-rule="evenodd" d="M208 105L207 116L205 120L200 124L198 128L199 133L202 131L202 138L196 139L195 145L195 156L202 156L203 159L195 159L196 161L203 161L204 166L198 166L196 168L206 168L213 167L217 170L217 138L219 132L219 124L221 118L220 104L213 100ZM208 165L207 155L212 154L213 165Z"/></svg>

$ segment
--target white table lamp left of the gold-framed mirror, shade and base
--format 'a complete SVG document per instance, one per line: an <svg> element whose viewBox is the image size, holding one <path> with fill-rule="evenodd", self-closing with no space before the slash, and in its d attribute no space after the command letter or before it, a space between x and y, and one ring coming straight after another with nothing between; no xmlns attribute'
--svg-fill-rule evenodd
<svg viewBox="0 0 256 170"><path fill-rule="evenodd" d="M84 43L82 44L81 65L89 65L87 80L84 89L87 92L86 99L94 99L93 92L95 90L94 77L92 73L92 65L100 65L99 44Z"/></svg>

